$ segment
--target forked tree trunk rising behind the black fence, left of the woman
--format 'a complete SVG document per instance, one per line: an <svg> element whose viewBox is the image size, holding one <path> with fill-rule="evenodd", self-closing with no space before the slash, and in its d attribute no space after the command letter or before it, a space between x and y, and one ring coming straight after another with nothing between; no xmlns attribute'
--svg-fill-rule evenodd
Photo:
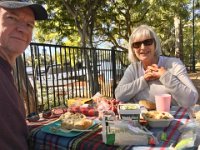
<svg viewBox="0 0 200 150"><path fill-rule="evenodd" d="M103 0L86 0L86 1L73 1L73 0L63 0L64 6L68 13L74 18L75 25L78 29L78 33L81 36L81 46L86 47L87 45L93 48L93 29L94 22L96 18L96 13L98 8L104 3ZM82 10L82 11L80 11ZM95 54L95 52L94 52ZM93 55L95 56L95 55ZM97 75L92 76L92 70L90 66L89 54L84 51L84 57L86 60L86 67L89 76L90 87L92 88L92 94L95 94L98 89L98 79ZM97 70L97 61L95 57L93 58L94 70ZM93 83L95 83L93 85Z"/></svg>

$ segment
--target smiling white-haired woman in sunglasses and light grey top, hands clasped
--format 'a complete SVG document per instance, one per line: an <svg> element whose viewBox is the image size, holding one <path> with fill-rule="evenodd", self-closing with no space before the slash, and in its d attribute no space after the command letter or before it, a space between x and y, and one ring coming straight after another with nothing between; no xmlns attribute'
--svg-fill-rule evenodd
<svg viewBox="0 0 200 150"><path fill-rule="evenodd" d="M115 89L116 99L138 102L155 101L156 94L171 94L172 105L190 107L198 92L180 59L161 56L160 41L154 30L141 25L129 38L131 64Z"/></svg>

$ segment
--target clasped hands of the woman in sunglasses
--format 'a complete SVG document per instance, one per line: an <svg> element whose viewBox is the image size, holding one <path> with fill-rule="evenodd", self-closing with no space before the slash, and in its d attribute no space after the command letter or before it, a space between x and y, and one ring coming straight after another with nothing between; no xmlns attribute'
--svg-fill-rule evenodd
<svg viewBox="0 0 200 150"><path fill-rule="evenodd" d="M156 64L147 67L147 70L144 74L144 79L146 81L157 80L159 79L164 73L166 69L164 67L159 67Z"/></svg>

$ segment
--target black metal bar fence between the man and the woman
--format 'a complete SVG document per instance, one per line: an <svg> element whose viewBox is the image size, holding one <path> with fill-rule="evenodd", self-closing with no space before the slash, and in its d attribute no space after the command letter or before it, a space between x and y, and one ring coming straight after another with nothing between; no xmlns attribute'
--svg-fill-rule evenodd
<svg viewBox="0 0 200 150"><path fill-rule="evenodd" d="M128 61L126 52L114 48L96 49L31 43L22 55L21 63L25 68L25 94L28 104L31 101L28 86L30 82L35 105L39 110L40 106L47 109L67 105L70 98L91 97L96 92L114 97L114 89ZM17 62L16 66L20 72L22 64ZM27 110L30 112L29 105Z"/></svg>

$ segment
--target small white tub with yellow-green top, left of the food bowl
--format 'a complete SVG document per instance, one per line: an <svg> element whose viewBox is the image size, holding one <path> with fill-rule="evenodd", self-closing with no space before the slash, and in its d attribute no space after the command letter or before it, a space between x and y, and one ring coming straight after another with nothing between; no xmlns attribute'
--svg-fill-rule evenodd
<svg viewBox="0 0 200 150"><path fill-rule="evenodd" d="M141 110L139 104L126 103L118 105L119 119L139 121L140 113Z"/></svg>

